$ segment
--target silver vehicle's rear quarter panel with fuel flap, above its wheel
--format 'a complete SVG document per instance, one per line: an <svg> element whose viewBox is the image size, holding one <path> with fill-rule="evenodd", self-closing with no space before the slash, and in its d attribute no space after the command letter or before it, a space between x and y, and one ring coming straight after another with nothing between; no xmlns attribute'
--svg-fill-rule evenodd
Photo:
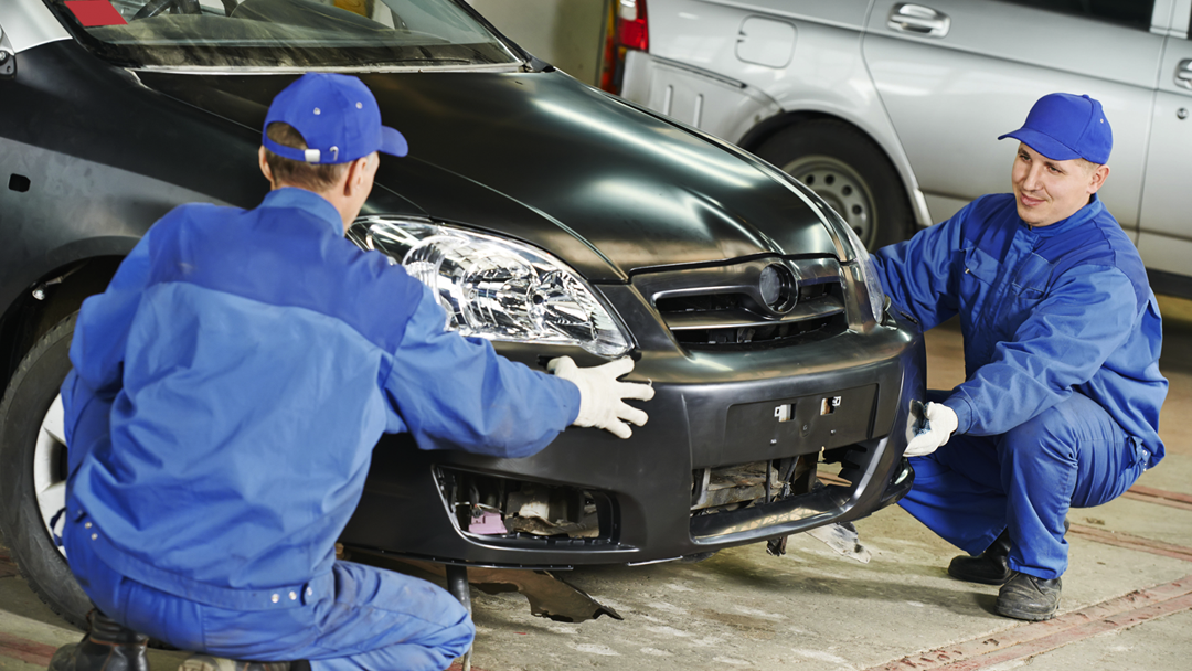
<svg viewBox="0 0 1192 671"><path fill-rule="evenodd" d="M713 0L700 5L699 15L671 20L670 14L682 6L664 2L653 14L650 52L626 54L622 95L685 123L694 120L693 125L749 150L756 150L766 135L803 119L844 120L889 159L915 222L920 226L932 223L862 52L871 4L834 4L808 13L800 4L765 4L746 11L735 2ZM782 62L774 54L772 60L743 58L737 50L740 36L749 31L726 31L726 26L744 26L743 20L789 25L788 60ZM725 97L740 102L727 104ZM769 104L753 102L759 99ZM728 117L715 118L716 113Z"/></svg>

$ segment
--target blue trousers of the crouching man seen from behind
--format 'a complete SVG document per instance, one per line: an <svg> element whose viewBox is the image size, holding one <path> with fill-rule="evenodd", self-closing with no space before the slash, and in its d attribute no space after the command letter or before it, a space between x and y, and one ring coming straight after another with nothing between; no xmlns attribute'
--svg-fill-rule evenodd
<svg viewBox="0 0 1192 671"><path fill-rule="evenodd" d="M296 608L236 611L197 603L116 573L87 549L82 524L64 534L70 569L108 617L181 650L260 661L309 659L312 671L442 671L476 629L446 590L417 578L336 561L334 596Z"/></svg>

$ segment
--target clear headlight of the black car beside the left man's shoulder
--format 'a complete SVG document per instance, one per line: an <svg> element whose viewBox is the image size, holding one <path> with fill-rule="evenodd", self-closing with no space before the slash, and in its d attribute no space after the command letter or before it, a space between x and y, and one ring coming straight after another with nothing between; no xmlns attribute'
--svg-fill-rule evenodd
<svg viewBox="0 0 1192 671"><path fill-rule="evenodd" d="M362 217L348 237L401 263L439 297L447 328L621 356L629 336L578 273L521 242L426 219Z"/></svg>

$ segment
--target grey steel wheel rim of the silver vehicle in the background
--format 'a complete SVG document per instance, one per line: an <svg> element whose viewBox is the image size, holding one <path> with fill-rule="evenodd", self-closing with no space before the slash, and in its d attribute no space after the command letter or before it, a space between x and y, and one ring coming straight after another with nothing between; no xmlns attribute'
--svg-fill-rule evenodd
<svg viewBox="0 0 1192 671"><path fill-rule="evenodd" d="M873 249L877 237L877 207L873 190L852 166L832 156L802 156L782 169L822 198L852 226L861 242Z"/></svg>

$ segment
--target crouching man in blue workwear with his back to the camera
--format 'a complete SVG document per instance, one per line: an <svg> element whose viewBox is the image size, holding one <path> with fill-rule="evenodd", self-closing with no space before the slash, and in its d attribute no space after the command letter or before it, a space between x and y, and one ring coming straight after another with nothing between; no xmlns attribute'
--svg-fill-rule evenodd
<svg viewBox="0 0 1192 671"><path fill-rule="evenodd" d="M51 669L147 669L148 634L206 653L187 671L441 670L472 640L465 608L335 559L381 433L516 458L646 421L628 359L511 362L343 237L378 151L406 154L358 79L302 76L262 135L259 207L173 210L79 315L64 545L99 614Z"/></svg>

